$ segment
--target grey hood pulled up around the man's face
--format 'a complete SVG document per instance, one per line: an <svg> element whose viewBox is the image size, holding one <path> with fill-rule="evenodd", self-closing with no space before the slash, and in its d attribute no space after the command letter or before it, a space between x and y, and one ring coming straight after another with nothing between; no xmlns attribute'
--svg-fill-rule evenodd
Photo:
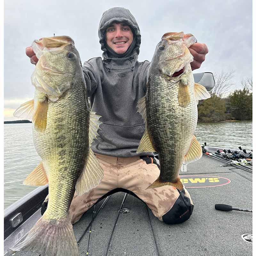
<svg viewBox="0 0 256 256"><path fill-rule="evenodd" d="M117 54L114 52L105 42L105 33L106 29L111 25L113 22L125 22L129 25L133 32L133 41L130 47L126 52L123 54ZM139 54L140 52L140 42L141 42L141 35L140 35L140 28L133 17L132 13L123 7L114 7L105 12L103 12L102 17L100 19L99 25L99 38L101 44L101 50L104 51L102 56L107 58L122 58L122 57L129 57L135 53Z"/></svg>

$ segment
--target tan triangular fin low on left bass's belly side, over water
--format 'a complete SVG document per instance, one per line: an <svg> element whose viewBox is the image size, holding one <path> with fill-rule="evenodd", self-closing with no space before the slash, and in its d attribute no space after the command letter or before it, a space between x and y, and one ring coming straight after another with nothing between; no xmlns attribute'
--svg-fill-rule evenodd
<svg viewBox="0 0 256 256"><path fill-rule="evenodd" d="M23 184L32 186L44 186L48 184L48 178L44 170L43 162L37 165L34 171L32 171L23 181Z"/></svg>

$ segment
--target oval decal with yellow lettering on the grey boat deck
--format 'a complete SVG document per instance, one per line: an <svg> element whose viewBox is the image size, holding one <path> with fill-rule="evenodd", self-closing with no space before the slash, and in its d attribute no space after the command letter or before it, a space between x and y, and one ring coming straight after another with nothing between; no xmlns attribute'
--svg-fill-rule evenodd
<svg viewBox="0 0 256 256"><path fill-rule="evenodd" d="M216 176L183 175L180 181L186 188L210 188L227 185L231 180Z"/></svg>

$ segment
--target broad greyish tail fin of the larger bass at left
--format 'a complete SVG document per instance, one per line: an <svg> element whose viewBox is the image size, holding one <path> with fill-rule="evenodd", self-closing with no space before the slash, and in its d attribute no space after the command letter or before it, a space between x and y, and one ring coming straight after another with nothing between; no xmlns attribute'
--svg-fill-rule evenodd
<svg viewBox="0 0 256 256"><path fill-rule="evenodd" d="M28 232L25 240L9 249L7 255L16 251L36 252L52 256L78 256L78 245L70 221L51 221L42 216Z"/></svg>

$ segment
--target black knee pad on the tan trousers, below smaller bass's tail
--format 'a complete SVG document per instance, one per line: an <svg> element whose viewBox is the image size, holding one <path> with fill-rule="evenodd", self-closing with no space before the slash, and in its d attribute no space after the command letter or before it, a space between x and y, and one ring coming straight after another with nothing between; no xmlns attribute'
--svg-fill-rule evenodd
<svg viewBox="0 0 256 256"><path fill-rule="evenodd" d="M190 199L185 196L185 190L178 190L180 196L173 204L169 212L166 212L162 219L167 224L178 224L188 220L193 212L194 205L190 203Z"/></svg>

